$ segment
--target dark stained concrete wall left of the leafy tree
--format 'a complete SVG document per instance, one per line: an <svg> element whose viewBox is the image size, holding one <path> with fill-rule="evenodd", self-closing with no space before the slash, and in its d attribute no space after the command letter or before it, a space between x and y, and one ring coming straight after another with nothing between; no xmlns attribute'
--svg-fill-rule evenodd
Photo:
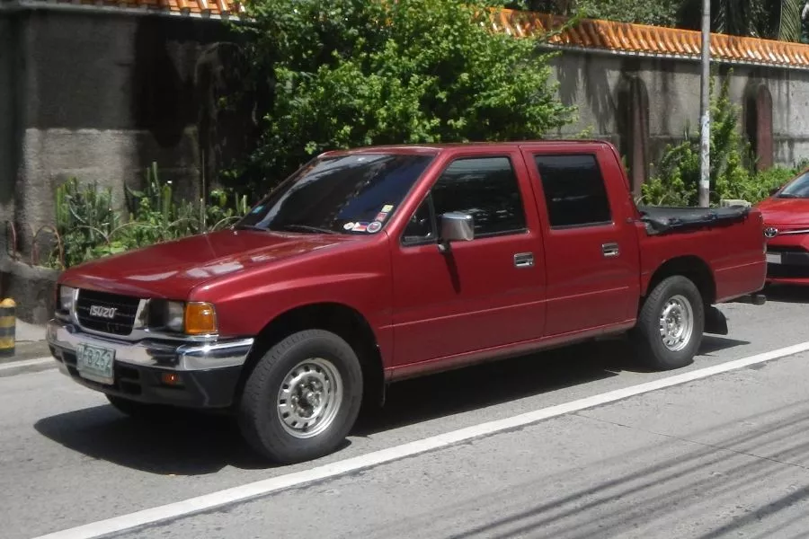
<svg viewBox="0 0 809 539"><path fill-rule="evenodd" d="M53 224L54 191L71 176L122 203L153 161L199 196L199 60L228 37L217 21L0 12L0 222Z"/></svg>

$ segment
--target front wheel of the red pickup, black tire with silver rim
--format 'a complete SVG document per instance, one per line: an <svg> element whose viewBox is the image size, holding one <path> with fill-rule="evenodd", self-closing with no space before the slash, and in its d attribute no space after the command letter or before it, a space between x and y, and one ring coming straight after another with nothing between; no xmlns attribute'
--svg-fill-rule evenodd
<svg viewBox="0 0 809 539"><path fill-rule="evenodd" d="M304 363L310 367L308 370L298 368ZM288 376L295 378L295 372L299 373L298 382L293 379L293 384L284 384ZM331 382L322 384L323 380ZM338 381L342 384L339 402L323 397L335 393ZM312 390L312 384L321 391L325 386L333 391L308 391ZM360 360L345 340L329 331L299 331L272 346L253 367L238 405L239 427L256 452L280 464L328 455L343 443L357 420L362 384ZM288 395L280 394L282 385L290 392ZM285 398L289 395L295 398ZM312 402L307 400L309 398ZM305 405L298 407L293 402ZM296 411L309 412L315 408L313 402L332 402L331 408L325 407L322 414L331 420L319 423L315 420L308 431L302 429L306 422L298 422L297 426L290 424L305 418L306 414ZM281 406L289 412L282 411ZM282 419L282 414L286 419ZM317 432L318 429L322 430Z"/></svg>

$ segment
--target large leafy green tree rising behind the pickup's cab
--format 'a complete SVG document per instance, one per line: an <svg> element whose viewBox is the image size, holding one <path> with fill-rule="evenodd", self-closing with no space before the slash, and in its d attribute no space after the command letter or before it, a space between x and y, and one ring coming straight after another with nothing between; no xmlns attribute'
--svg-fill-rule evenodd
<svg viewBox="0 0 809 539"><path fill-rule="evenodd" d="M502 6L502 4L500 4ZM253 179L372 144L542 137L573 119L538 42L493 31L485 0L248 0L266 87Z"/></svg>

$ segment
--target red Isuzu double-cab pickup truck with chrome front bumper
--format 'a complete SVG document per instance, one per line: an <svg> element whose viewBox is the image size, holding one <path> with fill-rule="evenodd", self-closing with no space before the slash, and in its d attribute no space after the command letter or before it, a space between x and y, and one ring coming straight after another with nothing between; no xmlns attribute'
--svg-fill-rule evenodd
<svg viewBox="0 0 809 539"><path fill-rule="evenodd" d="M120 411L231 411L289 463L407 376L627 331L647 365L689 365L766 269L758 210L636 208L604 142L378 146L320 155L225 231L67 270L48 339Z"/></svg>

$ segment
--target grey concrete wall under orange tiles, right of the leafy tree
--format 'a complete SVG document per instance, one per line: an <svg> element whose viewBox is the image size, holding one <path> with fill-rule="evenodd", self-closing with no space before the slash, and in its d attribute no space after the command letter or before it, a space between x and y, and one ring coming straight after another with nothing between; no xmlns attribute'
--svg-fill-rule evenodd
<svg viewBox="0 0 809 539"><path fill-rule="evenodd" d="M720 66L727 76L730 66ZM618 86L623 77L637 77L649 95L649 157L661 155L666 144L679 142L686 129L699 128L698 62L677 59L621 57L565 52L555 60L559 94L576 105L580 118L557 135L571 136L592 129L594 137L620 145ZM792 165L809 157L809 71L733 66L731 94L746 107L745 95L753 84L765 84L772 95L773 142L776 163ZM742 110L742 124L745 119ZM740 126L744 128L744 125Z"/></svg>

